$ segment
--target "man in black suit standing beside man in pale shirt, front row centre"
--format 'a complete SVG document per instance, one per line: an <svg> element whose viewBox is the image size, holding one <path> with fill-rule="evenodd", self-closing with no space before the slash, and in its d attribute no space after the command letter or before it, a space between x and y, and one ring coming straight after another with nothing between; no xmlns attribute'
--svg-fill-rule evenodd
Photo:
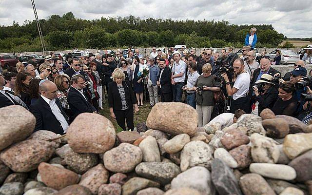
<svg viewBox="0 0 312 195"><path fill-rule="evenodd" d="M157 77L157 85L159 87L160 97L162 102L172 101L172 89L171 89L171 70L166 66L165 59L159 60L159 66L161 70Z"/></svg>

